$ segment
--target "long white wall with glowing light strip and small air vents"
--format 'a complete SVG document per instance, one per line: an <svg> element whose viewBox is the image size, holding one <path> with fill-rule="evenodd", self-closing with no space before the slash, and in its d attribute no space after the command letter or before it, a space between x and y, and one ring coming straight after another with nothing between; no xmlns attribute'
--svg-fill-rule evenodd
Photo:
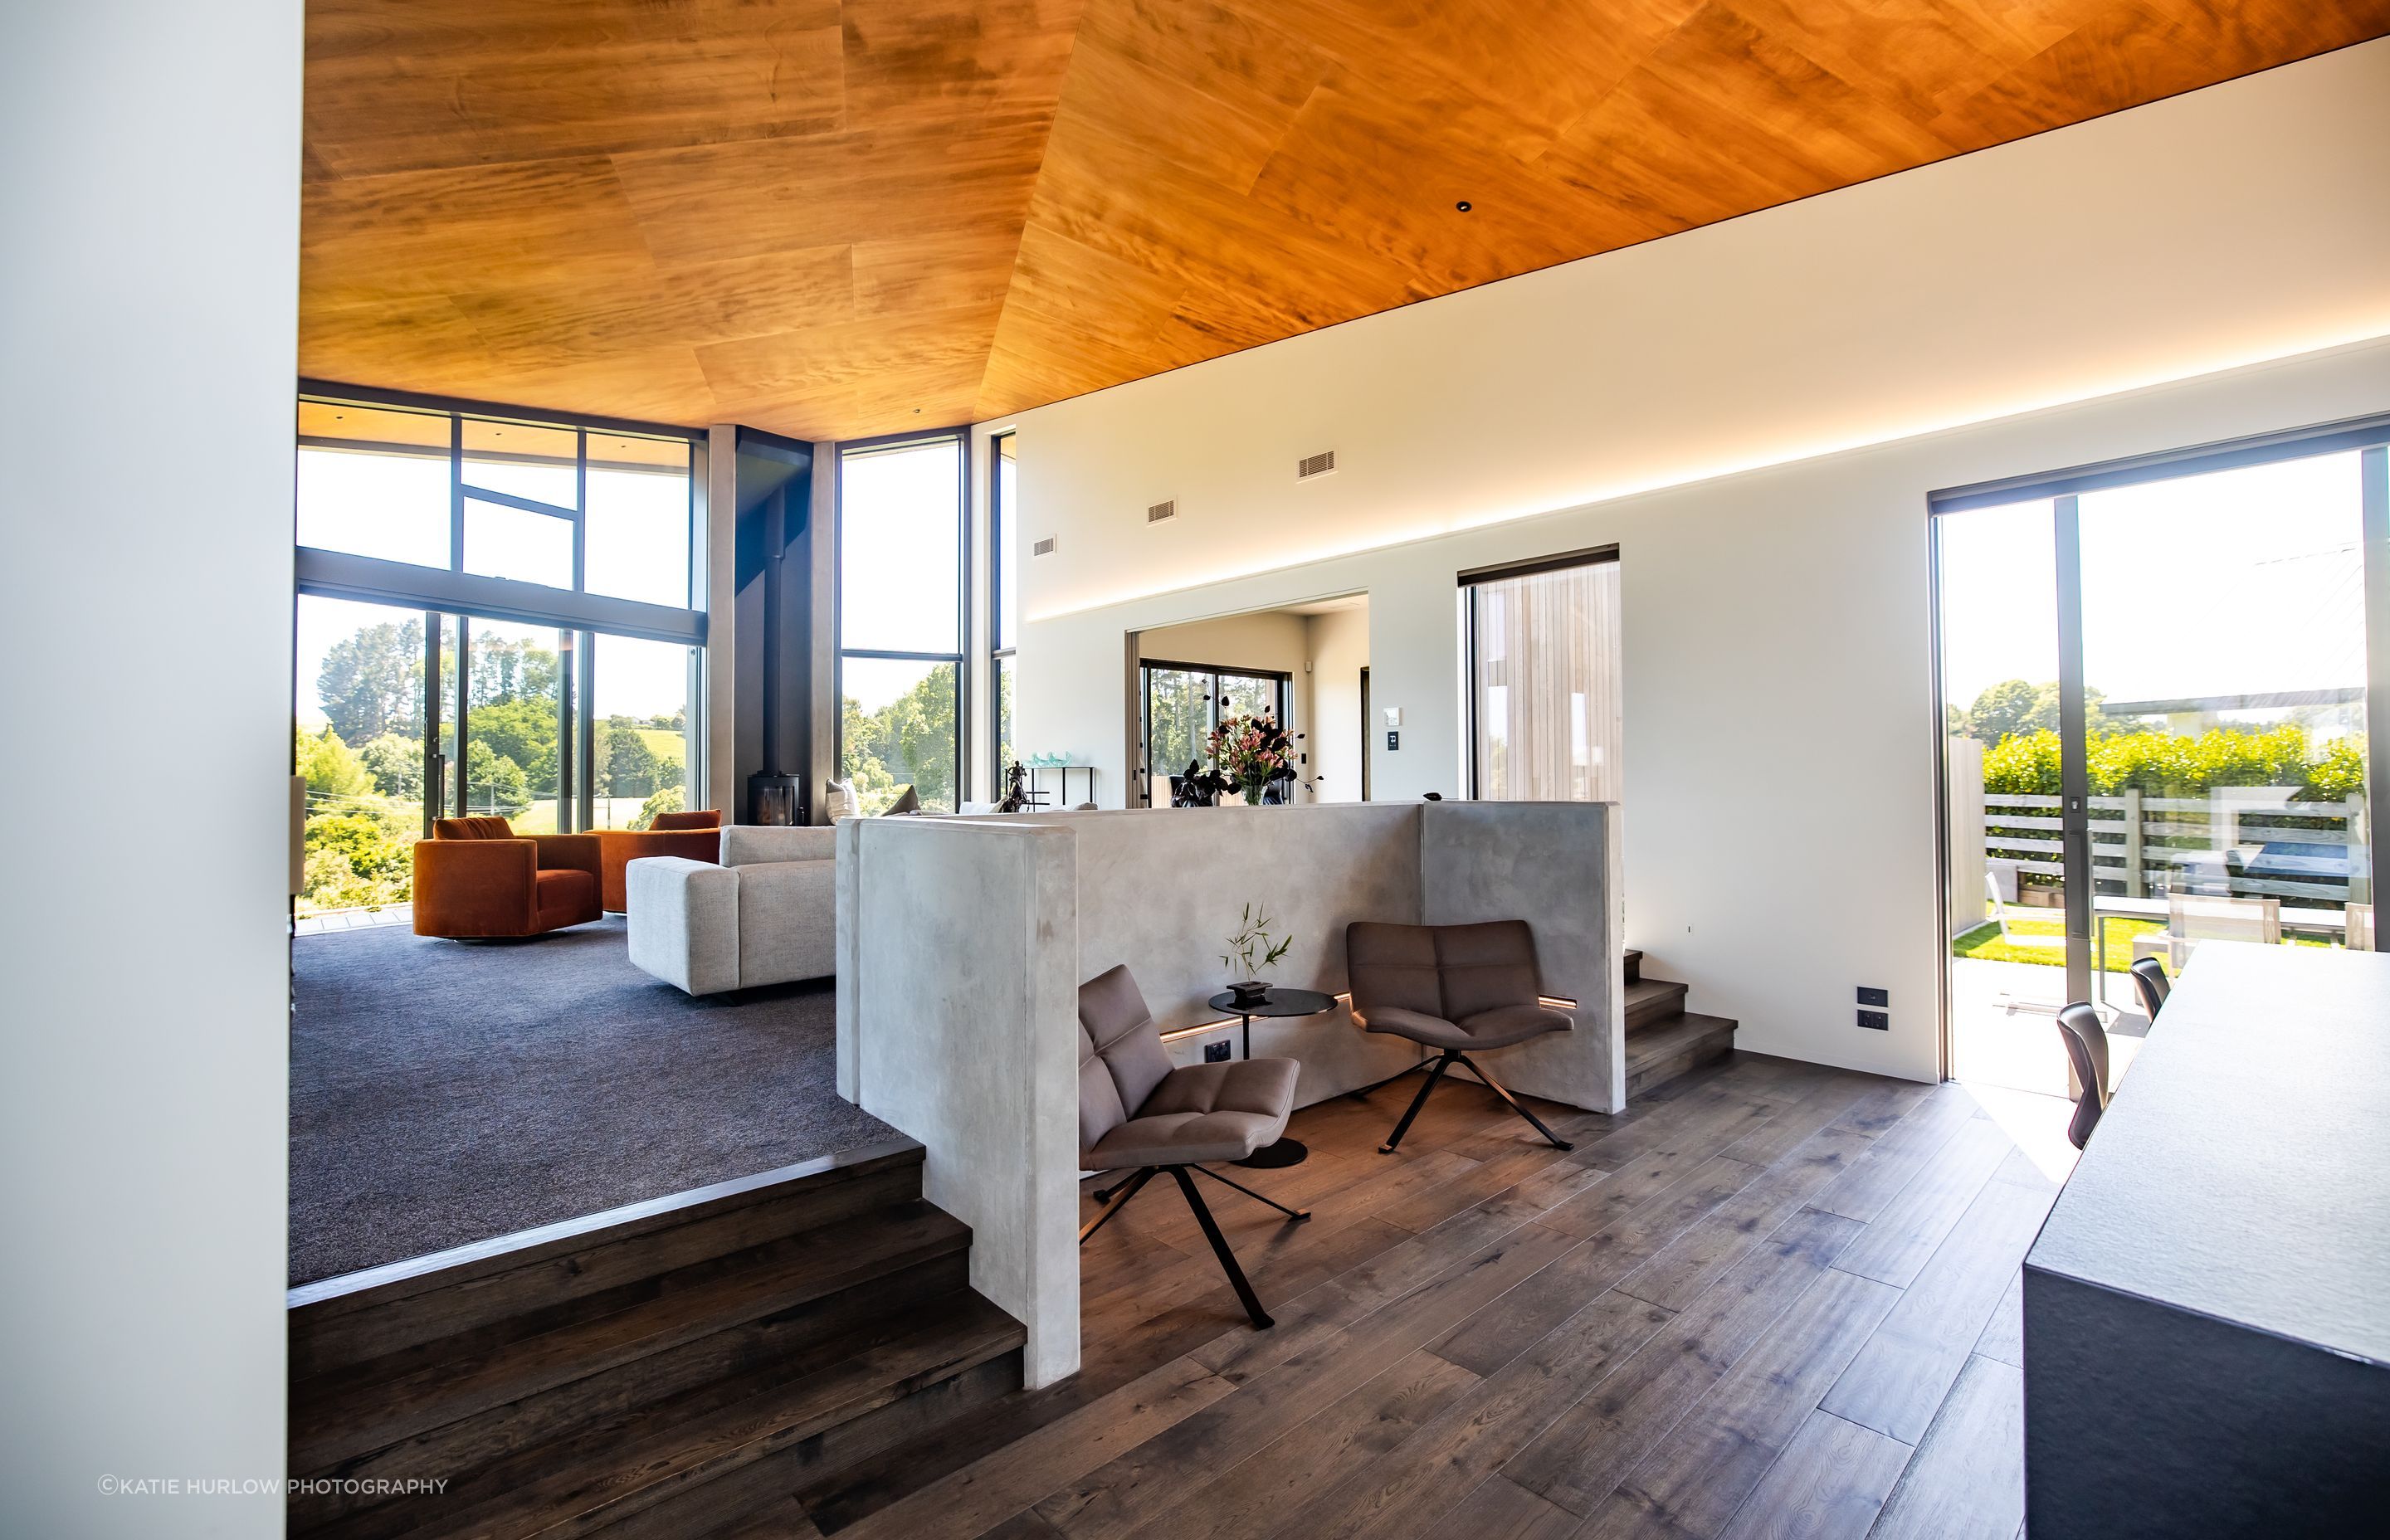
<svg viewBox="0 0 2390 1540"><path fill-rule="evenodd" d="M1616 540L1628 942L1929 1078L1926 493L2390 409L2385 184L2390 41L1023 414L1025 734L1121 741L1123 631L1367 588L1374 792L1451 796L1453 574Z"/></svg>

